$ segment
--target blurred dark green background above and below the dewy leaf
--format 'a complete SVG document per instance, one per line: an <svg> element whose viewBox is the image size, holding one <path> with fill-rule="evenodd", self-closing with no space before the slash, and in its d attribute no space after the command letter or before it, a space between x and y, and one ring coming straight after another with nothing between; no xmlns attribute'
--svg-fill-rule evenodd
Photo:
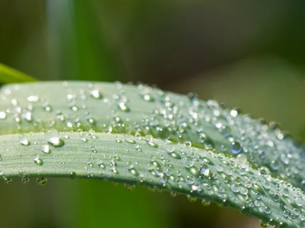
<svg viewBox="0 0 305 228"><path fill-rule="evenodd" d="M39 80L196 91L305 138L304 1L1 0L0 62ZM94 180L1 183L2 227L259 227L185 196Z"/></svg>

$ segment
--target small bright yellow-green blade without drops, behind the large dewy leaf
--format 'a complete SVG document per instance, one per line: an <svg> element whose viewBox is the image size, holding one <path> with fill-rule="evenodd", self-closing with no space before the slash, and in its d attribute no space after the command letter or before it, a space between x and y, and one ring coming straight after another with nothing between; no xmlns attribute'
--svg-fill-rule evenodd
<svg viewBox="0 0 305 228"><path fill-rule="evenodd" d="M0 63L0 83L35 82L37 79Z"/></svg>

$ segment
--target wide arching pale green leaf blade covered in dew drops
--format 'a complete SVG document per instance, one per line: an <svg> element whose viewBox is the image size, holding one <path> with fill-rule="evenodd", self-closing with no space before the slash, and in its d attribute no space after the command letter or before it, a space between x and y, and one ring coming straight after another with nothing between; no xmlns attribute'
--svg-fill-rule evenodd
<svg viewBox="0 0 305 228"><path fill-rule="evenodd" d="M119 83L7 85L0 92L2 177L145 185L277 227L303 227L303 145L273 123L191 95Z"/></svg>

